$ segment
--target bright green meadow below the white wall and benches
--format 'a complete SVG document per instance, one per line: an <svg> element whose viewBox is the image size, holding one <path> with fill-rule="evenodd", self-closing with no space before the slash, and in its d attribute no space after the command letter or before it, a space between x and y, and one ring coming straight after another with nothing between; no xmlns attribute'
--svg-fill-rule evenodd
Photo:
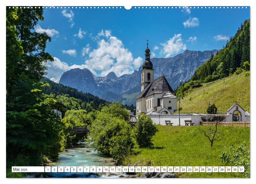
<svg viewBox="0 0 256 184"><path fill-rule="evenodd" d="M221 141L210 141L200 134L197 126L157 125L159 132L153 137L153 149L137 149L125 160L125 165L141 161L140 166L226 166L220 155L235 146L250 141L250 127L218 126L224 134ZM231 165L227 165L231 166ZM241 173L176 173L178 177L189 178L234 178L243 177Z"/></svg>

